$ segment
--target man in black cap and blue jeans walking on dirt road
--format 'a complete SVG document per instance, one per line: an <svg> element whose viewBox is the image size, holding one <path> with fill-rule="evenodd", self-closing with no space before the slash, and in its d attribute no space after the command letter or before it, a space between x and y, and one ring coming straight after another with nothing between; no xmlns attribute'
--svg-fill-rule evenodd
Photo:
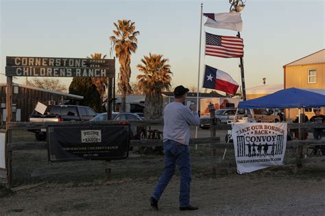
<svg viewBox="0 0 325 216"><path fill-rule="evenodd" d="M150 205L158 210L158 201L178 166L180 171L180 210L197 210L190 204L191 160L189 152L190 125L200 125L195 108L184 106L189 88L177 86L175 101L164 110L163 141L165 146L165 170L150 197Z"/></svg>

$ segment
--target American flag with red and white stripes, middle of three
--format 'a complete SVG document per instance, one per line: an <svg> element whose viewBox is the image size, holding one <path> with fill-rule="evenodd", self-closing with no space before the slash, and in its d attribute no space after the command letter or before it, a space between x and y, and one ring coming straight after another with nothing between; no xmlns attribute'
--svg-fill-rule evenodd
<svg viewBox="0 0 325 216"><path fill-rule="evenodd" d="M206 55L221 58L243 57L243 39L206 32Z"/></svg>

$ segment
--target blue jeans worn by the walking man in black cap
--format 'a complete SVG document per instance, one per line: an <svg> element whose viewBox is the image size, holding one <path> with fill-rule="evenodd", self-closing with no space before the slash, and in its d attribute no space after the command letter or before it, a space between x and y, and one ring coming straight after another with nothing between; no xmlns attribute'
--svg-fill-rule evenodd
<svg viewBox="0 0 325 216"><path fill-rule="evenodd" d="M190 184L192 180L191 159L189 146L176 141L165 142L165 170L159 178L159 182L152 193L152 197L159 200L167 184L173 178L176 165L180 171L180 207L189 206Z"/></svg>

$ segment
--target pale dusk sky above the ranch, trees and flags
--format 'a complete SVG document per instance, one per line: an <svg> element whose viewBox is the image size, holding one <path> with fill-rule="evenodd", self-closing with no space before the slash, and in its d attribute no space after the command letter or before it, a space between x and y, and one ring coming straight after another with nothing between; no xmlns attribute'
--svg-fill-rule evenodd
<svg viewBox="0 0 325 216"><path fill-rule="evenodd" d="M5 56L86 58L91 53L110 55L110 40L118 19L130 19L140 32L136 64L149 53L169 59L173 86L197 86L200 4L210 13L228 12L223 1L4 1L1 0L0 82L5 82ZM252 1L241 12L246 88L283 83L282 66L324 49L324 1ZM206 18L203 18L203 22ZM237 32L202 26L202 33L236 36ZM204 56L204 64L232 75L239 82L238 58ZM119 64L116 62L116 70ZM61 78L60 78L61 79ZM23 84L23 78L14 82ZM71 78L62 78L69 86ZM240 83L240 82L239 82Z"/></svg>

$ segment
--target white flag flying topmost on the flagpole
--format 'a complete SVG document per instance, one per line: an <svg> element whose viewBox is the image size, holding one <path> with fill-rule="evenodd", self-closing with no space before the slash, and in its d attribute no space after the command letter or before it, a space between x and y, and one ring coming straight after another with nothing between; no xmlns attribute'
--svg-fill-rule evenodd
<svg viewBox="0 0 325 216"><path fill-rule="evenodd" d="M205 26L217 29L230 29L241 32L243 29L243 21L241 21L240 13L219 13L219 14L203 14L208 17Z"/></svg>

